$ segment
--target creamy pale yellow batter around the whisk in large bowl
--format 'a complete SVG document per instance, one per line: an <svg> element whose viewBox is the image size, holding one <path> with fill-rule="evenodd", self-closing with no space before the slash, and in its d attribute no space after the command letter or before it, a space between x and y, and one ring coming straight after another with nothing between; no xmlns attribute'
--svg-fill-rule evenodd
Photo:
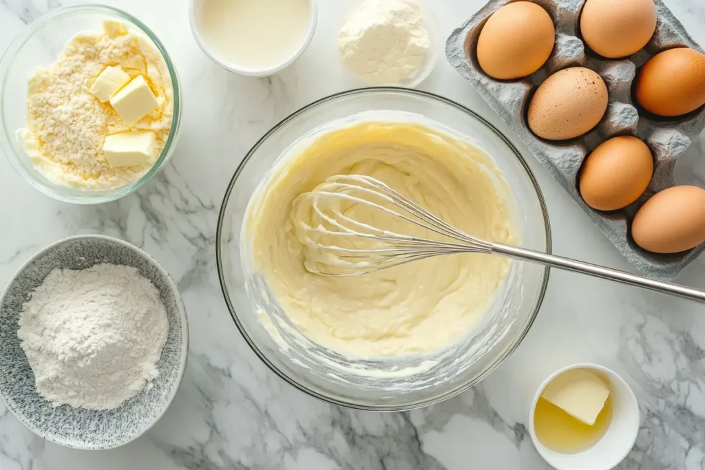
<svg viewBox="0 0 705 470"><path fill-rule="evenodd" d="M319 221L293 203L331 175L350 174L383 181L467 233L519 242L508 185L494 161L469 142L415 122L365 120L329 130L278 161L247 207L245 237L255 269L283 311L310 340L352 357L439 350L469 333L505 278L508 259L440 256L355 278L306 270L307 256L316 254L296 227ZM364 223L413 232L368 214L374 209L366 206L349 210Z"/></svg>

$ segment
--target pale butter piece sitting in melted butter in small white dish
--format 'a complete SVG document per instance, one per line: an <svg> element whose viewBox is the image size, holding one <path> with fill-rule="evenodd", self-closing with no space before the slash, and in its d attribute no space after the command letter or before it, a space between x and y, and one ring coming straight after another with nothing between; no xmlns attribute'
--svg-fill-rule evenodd
<svg viewBox="0 0 705 470"><path fill-rule="evenodd" d="M590 426L595 423L609 395L610 389L604 381L587 369L565 371L541 392L541 397Z"/></svg>

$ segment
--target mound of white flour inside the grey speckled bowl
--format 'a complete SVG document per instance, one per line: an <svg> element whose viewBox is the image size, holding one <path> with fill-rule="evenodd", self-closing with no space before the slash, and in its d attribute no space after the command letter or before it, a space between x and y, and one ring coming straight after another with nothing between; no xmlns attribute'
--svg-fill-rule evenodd
<svg viewBox="0 0 705 470"><path fill-rule="evenodd" d="M114 264L54 269L19 325L39 394L87 409L116 408L151 387L168 330L157 288Z"/></svg>

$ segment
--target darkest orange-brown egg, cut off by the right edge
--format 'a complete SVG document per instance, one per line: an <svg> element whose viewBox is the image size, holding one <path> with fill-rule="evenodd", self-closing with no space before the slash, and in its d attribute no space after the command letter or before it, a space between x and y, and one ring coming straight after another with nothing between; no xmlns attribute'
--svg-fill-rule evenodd
<svg viewBox="0 0 705 470"><path fill-rule="evenodd" d="M694 49L668 49L639 69L637 101L659 116L680 116L705 104L705 55Z"/></svg>

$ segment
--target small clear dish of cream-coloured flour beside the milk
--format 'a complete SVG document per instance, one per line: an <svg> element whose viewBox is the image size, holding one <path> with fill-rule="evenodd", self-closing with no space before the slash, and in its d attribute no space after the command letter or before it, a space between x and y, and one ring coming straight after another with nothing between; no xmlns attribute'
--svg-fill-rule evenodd
<svg viewBox="0 0 705 470"><path fill-rule="evenodd" d="M414 0L367 0L338 32L345 66L378 85L398 85L412 78L430 47L421 8Z"/></svg>

